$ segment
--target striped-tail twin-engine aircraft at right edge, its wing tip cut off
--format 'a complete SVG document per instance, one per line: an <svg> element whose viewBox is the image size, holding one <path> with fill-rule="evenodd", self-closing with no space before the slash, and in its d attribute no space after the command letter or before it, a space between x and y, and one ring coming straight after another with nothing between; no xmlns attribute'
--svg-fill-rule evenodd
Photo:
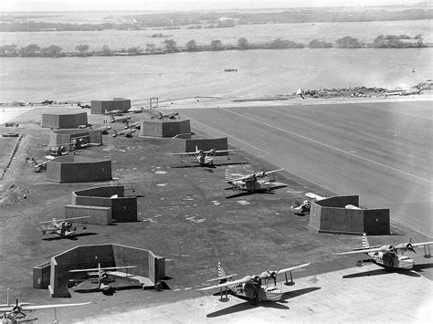
<svg viewBox="0 0 433 324"><path fill-rule="evenodd" d="M423 243L401 243L397 246L370 246L367 235L363 235L363 247L354 249L349 252L338 253L338 255L353 255L363 253L370 256L376 265L385 267L386 271L391 272L394 269L410 270L414 267L415 262L409 256L405 256L406 251L415 252L414 247L424 247L425 256L430 256L430 244L433 241ZM362 264L362 262L358 261Z"/></svg>

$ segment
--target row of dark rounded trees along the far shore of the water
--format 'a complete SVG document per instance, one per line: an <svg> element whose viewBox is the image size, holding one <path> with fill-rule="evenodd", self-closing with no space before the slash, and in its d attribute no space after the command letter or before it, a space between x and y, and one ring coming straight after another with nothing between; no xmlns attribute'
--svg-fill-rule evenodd
<svg viewBox="0 0 433 324"><path fill-rule="evenodd" d="M153 55L177 52L199 52L199 51L222 51L222 50L248 50L248 49L285 49L285 48L331 48L333 43L320 39L312 39L306 46L291 40L276 38L269 43L250 44L246 37L238 38L236 45L224 45L221 40L213 39L209 45L198 45L194 39L186 42L185 46L180 47L174 39L165 39L161 47L154 44L146 44L146 47L129 47L122 49L111 49L104 45L101 49L90 51L89 45L78 45L76 52L63 52L63 48L57 45L49 47L39 47L37 44L30 44L26 47L16 45L5 45L0 47L2 57L67 57L67 56L120 56L120 55ZM342 37L335 41L335 47L339 48L408 48L408 47L428 47L423 42L421 34L416 37L407 35L380 35L375 37L373 43L365 44L355 37Z"/></svg>

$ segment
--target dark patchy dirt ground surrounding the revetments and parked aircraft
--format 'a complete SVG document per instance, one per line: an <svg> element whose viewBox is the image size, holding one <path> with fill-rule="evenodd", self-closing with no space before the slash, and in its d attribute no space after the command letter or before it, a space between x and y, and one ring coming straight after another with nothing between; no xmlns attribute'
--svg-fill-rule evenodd
<svg viewBox="0 0 433 324"><path fill-rule="evenodd" d="M61 108L57 108L61 109ZM97 308L75 314L84 318L85 312L103 313L109 309L134 308L150 303L166 303L181 298L199 296L194 289L203 287L206 280L216 277L216 266L221 262L229 272L243 276L268 269L292 267L311 262L299 272L299 277L329 272L354 265L354 256L335 256L334 253L358 246L359 236L319 234L308 225L309 217L293 214L290 205L302 201L304 193L332 195L321 187L308 183L289 172L276 173L276 181L287 186L270 193L239 195L233 198L224 182L228 169L232 174L278 169L246 152L227 157L216 157L216 168L195 167L194 159L170 155L179 152L179 140L151 139L134 136L113 138L105 135L104 145L80 150L77 154L111 158L115 182L132 182L138 196L138 222L102 226L89 225L85 235L76 240L48 238L37 231L41 221L63 218L71 192L108 183L50 183L45 172L34 172L26 157L43 160L47 154L48 129L41 129L42 111L30 110L20 116L22 141L5 178L0 182L0 292L17 289L23 301L53 303L48 290L33 288L32 267L49 260L71 247L87 244L115 243L150 249L164 256L165 284L169 290L158 294L152 290L120 290L111 297L100 293L83 294L71 289L72 298L58 298L56 302L94 301ZM71 109L72 110L72 109ZM77 109L73 109L77 110ZM90 116L95 126L102 116ZM140 114L132 114L132 121ZM112 124L121 130L121 123ZM4 128L0 127L0 132ZM193 130L195 131L195 130ZM135 135L135 134L134 134ZM195 137L206 137L197 133ZM13 145L2 144L2 152ZM7 154L6 154L7 155ZM3 161L3 159L2 159ZM232 165L224 165L234 162ZM7 198L7 199L5 199ZM393 235L372 237L371 243L388 241L414 242L426 239L393 224ZM430 264L421 258L419 270ZM41 312L42 318L47 312Z"/></svg>

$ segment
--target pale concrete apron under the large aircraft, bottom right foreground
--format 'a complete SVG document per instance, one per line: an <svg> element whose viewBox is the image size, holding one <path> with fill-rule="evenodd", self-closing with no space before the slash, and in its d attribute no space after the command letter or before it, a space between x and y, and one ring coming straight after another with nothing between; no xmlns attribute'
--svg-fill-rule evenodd
<svg viewBox="0 0 433 324"><path fill-rule="evenodd" d="M279 303L248 301L212 292L163 305L111 313L79 323L278 323L278 322L426 322L432 314L432 282L416 272L386 273L371 263L278 283ZM216 289L217 292L217 289ZM164 292L166 293L166 292Z"/></svg>

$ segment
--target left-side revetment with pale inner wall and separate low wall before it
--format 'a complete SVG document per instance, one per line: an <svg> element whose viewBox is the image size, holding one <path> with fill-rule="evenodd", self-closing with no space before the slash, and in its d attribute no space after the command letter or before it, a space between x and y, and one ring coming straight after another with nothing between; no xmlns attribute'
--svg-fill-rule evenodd
<svg viewBox="0 0 433 324"><path fill-rule="evenodd" d="M113 196L117 195L116 198ZM72 192L71 197L72 206L95 206L108 208L106 210L96 210L92 214L90 210L79 210L79 208L72 208L74 212L69 211L69 214L75 213L87 213L86 216L90 216L87 219L91 224L111 224L111 221L118 223L123 222L137 222L137 197L125 197L123 186L105 186L90 188ZM67 217L68 218L68 217Z"/></svg>

